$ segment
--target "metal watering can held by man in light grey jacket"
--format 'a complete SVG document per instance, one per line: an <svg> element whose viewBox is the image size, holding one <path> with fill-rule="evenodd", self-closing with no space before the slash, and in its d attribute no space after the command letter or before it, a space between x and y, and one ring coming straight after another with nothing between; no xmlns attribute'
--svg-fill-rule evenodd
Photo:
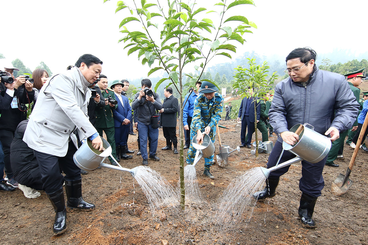
<svg viewBox="0 0 368 245"><path fill-rule="evenodd" d="M97 167L106 167L108 169L115 169L124 172L129 172L132 176L134 176L135 170L137 167L133 169L127 169L125 167L121 167L121 165L116 161L116 159L112 156L112 148L110 144L102 138L103 143L103 151L100 152L97 149L92 147L90 141L86 141L79 147L79 149L74 153L73 160L75 165L77 165L80 169L85 171L92 171L95 170ZM111 158L117 163L118 166L110 165L103 163L103 161L108 157Z"/></svg>

